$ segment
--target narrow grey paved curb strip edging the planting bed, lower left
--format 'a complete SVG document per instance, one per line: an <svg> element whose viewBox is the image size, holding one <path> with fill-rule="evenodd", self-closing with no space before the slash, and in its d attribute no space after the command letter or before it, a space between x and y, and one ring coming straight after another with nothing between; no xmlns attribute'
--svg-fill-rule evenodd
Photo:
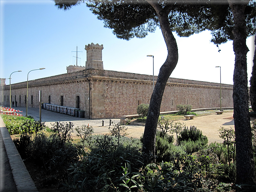
<svg viewBox="0 0 256 192"><path fill-rule="evenodd" d="M20 154L18 153L10 134L5 127L5 123L2 118L0 118L0 131L3 137L5 150L9 159L17 191L38 192L34 181L30 177L23 160L21 159Z"/></svg>

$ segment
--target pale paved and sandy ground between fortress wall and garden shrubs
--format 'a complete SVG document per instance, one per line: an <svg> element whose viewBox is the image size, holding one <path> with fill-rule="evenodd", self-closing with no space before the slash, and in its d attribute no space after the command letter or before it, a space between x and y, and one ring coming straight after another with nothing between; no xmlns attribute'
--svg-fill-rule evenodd
<svg viewBox="0 0 256 192"><path fill-rule="evenodd" d="M21 114L23 116L26 115L25 107L15 107L17 110L23 110ZM196 126L198 129L202 130L203 135L208 137L209 143L211 142L222 142L223 140L219 138L219 132L221 126L229 128L234 128L234 120L233 112L228 110L229 112L225 112L222 115L212 114L212 115L204 115L195 117L193 120L179 120L180 122L186 123L186 126L190 127L191 125ZM109 119L104 119L104 126L102 126L102 120L89 120L85 118L73 117L61 113L56 113L48 110L41 110L42 112L42 121L49 127L51 127L51 123L55 121L60 122L73 122L74 127L81 125L89 125L93 126L95 134L106 134L109 132ZM35 120L39 120L39 108L28 108L28 115L33 116ZM119 122L120 119L112 119L115 123ZM127 127L127 133L129 133L128 137L140 138L144 132L144 126L138 125L125 125ZM76 132L73 133L76 136Z"/></svg>

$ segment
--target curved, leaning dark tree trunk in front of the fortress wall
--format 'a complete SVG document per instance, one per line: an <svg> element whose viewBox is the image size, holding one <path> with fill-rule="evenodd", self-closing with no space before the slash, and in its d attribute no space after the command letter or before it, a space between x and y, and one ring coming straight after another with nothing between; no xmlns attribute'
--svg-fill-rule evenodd
<svg viewBox="0 0 256 192"><path fill-rule="evenodd" d="M168 50L167 59L160 68L156 85L151 96L143 136L143 153L152 154L153 158L155 158L155 135L158 117L160 114L162 96L166 82L178 62L178 47L170 29L170 24L168 20L168 14L170 13L170 9L172 8L172 6L166 5L164 8L162 8L160 5L157 4L156 1L148 0L148 2L150 5L153 6L158 15L163 38Z"/></svg>

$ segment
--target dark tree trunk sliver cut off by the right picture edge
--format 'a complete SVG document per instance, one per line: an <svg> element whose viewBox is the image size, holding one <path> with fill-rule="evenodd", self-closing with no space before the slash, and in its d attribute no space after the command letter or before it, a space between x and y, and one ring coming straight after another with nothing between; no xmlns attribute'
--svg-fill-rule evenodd
<svg viewBox="0 0 256 192"><path fill-rule="evenodd" d="M256 35L254 44L256 45ZM253 111L256 111L256 48L254 50L254 57L253 57L253 66L251 72L251 79L250 79L250 101L251 107Z"/></svg>

